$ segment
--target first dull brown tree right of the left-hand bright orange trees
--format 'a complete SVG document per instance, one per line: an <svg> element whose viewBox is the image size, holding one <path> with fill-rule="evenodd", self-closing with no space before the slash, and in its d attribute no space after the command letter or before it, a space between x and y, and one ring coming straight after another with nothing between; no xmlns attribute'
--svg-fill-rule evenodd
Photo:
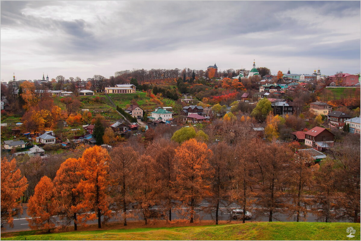
<svg viewBox="0 0 361 241"><path fill-rule="evenodd" d="M123 217L124 226L127 225L127 210L133 200L134 173L138 153L131 146L118 146L110 152L109 163L111 189L113 191L116 213Z"/></svg>

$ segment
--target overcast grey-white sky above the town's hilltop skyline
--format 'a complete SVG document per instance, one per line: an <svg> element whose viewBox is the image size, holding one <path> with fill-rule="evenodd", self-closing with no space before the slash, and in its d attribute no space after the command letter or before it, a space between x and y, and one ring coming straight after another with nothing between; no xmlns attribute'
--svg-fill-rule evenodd
<svg viewBox="0 0 361 241"><path fill-rule="evenodd" d="M132 69L360 72L360 1L1 1L1 79Z"/></svg>

